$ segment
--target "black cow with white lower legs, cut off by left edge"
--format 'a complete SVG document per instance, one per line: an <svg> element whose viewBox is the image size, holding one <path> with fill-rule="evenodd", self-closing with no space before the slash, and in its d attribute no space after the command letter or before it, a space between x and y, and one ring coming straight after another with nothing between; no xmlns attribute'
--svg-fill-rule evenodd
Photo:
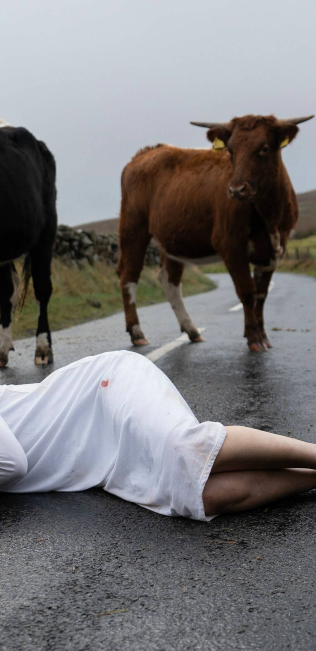
<svg viewBox="0 0 316 651"><path fill-rule="evenodd" d="M8 361L19 278L14 260L26 254L24 295L33 277L39 316L36 364L53 361L47 305L57 228L56 168L47 146L21 127L0 120L0 367Z"/></svg>

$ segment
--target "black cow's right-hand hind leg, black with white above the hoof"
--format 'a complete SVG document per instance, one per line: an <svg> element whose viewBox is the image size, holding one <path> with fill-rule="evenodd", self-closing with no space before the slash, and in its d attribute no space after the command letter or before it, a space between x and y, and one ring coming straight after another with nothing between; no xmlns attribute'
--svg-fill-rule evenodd
<svg viewBox="0 0 316 651"><path fill-rule="evenodd" d="M34 294L38 304L38 326L36 330L35 364L47 365L53 362L51 333L47 318L47 305L53 290L51 285L51 244L37 245L30 253Z"/></svg>

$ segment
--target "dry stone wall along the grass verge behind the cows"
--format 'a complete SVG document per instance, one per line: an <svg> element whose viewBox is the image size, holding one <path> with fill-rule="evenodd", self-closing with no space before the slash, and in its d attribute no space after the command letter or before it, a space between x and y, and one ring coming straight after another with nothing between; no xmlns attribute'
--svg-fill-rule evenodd
<svg viewBox="0 0 316 651"><path fill-rule="evenodd" d="M81 267L87 262L93 265L98 260L106 260L108 264L116 265L118 236L101 235L94 230L72 229L69 226L59 225L54 256L69 266ZM148 266L159 264L159 251L153 240L146 251L145 264Z"/></svg>

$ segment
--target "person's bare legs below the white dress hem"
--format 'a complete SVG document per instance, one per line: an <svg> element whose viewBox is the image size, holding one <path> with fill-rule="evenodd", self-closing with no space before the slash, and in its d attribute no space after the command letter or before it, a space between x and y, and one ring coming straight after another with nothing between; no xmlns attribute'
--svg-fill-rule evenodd
<svg viewBox="0 0 316 651"><path fill-rule="evenodd" d="M228 426L205 483L206 515L256 508L316 488L316 445Z"/></svg>

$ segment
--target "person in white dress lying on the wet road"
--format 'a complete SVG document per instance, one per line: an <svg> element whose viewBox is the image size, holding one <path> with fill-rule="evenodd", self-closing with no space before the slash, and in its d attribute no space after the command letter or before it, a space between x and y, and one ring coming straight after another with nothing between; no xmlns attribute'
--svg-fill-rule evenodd
<svg viewBox="0 0 316 651"><path fill-rule="evenodd" d="M85 357L0 387L0 490L94 486L166 516L207 521L316 488L316 445L199 423L138 353Z"/></svg>

